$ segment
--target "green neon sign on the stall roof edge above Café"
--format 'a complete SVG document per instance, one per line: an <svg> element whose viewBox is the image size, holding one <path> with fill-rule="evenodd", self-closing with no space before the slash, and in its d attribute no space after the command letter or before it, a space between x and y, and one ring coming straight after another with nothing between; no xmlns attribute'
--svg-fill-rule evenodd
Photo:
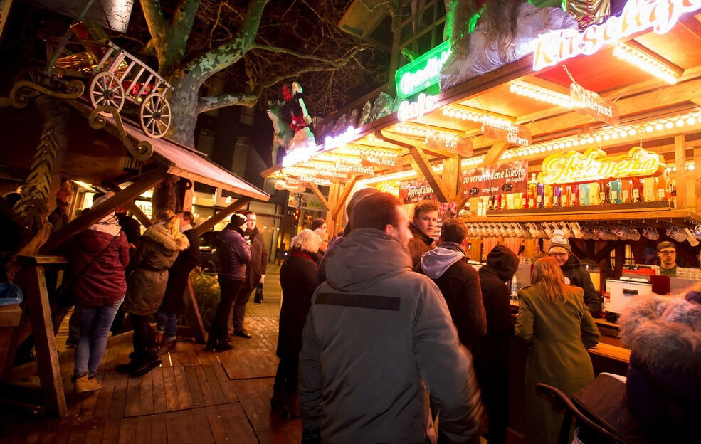
<svg viewBox="0 0 701 444"><path fill-rule="evenodd" d="M450 41L446 40L428 53L402 66L394 74L396 94L406 99L412 94L438 83L443 63L450 57Z"/></svg>

